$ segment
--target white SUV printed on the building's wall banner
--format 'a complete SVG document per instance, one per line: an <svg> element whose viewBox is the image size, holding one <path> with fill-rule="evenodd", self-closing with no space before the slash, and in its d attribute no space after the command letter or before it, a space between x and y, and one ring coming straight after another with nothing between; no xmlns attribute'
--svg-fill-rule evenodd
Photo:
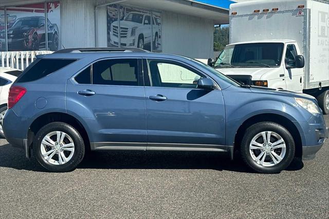
<svg viewBox="0 0 329 219"><path fill-rule="evenodd" d="M120 44L121 47L138 47L144 49L144 45L153 43L153 48L158 48L160 25L152 17L153 36L151 36L151 14L130 12L123 21L120 21ZM118 21L111 24L110 42L112 45L119 45Z"/></svg>

